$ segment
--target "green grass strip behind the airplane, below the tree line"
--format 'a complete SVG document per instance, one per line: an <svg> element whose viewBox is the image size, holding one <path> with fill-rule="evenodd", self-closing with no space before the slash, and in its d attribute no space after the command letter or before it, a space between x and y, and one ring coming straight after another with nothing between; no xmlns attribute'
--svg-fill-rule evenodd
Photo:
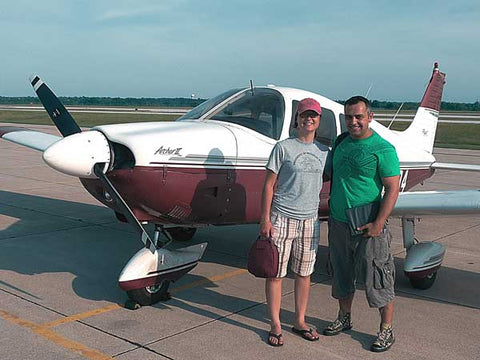
<svg viewBox="0 0 480 360"><path fill-rule="evenodd" d="M174 121L178 115L163 114L104 114L81 113L72 115L81 127L96 125L142 122L142 121ZM0 122L52 125L45 112L38 111L0 111ZM383 122L385 125L388 122ZM394 122L393 130L404 130L409 123ZM435 146L459 149L480 149L480 124L446 124L440 123L435 138Z"/></svg>

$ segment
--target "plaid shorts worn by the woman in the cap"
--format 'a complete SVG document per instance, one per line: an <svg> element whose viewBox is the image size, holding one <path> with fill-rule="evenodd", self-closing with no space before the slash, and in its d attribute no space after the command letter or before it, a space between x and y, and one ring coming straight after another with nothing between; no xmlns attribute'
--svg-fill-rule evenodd
<svg viewBox="0 0 480 360"><path fill-rule="evenodd" d="M291 253L291 270L300 276L313 273L320 239L320 222L317 217L296 220L272 211L273 243L278 248L277 277L287 275Z"/></svg>

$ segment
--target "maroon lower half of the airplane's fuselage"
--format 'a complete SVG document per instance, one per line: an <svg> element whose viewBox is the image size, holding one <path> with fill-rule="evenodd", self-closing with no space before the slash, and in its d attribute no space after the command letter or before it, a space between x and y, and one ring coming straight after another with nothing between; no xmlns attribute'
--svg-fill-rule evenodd
<svg viewBox="0 0 480 360"><path fill-rule="evenodd" d="M209 169L195 167L135 167L108 174L139 221L163 224L248 224L260 219L265 168ZM421 183L433 170L410 169L404 191ZM105 199L97 179L81 179L95 198L118 211ZM320 219L328 217L330 183L320 194Z"/></svg>

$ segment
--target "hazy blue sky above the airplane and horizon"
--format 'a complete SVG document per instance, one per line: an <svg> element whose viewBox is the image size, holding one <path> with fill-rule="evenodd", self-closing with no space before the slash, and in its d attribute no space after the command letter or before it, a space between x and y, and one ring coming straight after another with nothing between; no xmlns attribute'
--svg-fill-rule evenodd
<svg viewBox="0 0 480 360"><path fill-rule="evenodd" d="M209 98L275 84L331 99L480 100L478 0L6 0L0 96Z"/></svg>

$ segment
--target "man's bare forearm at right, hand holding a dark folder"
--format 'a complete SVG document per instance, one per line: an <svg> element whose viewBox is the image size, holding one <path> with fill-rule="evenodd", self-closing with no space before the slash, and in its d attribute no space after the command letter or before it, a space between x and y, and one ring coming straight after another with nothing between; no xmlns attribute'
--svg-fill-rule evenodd
<svg viewBox="0 0 480 360"><path fill-rule="evenodd" d="M377 218L375 221L358 228L358 230L361 231L365 230L364 237L380 236L385 221L387 221L387 218L392 213L395 203L397 202L398 193L400 191L400 175L384 177L382 178L382 184L385 187L385 194L380 203Z"/></svg>

